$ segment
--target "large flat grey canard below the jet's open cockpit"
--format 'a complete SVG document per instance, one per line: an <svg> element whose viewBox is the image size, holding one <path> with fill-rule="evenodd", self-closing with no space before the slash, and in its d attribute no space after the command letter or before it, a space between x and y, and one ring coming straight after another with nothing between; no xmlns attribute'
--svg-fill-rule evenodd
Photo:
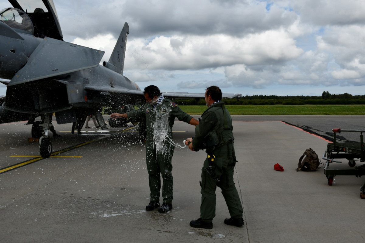
<svg viewBox="0 0 365 243"><path fill-rule="evenodd" d="M97 67L104 51L44 38L8 86Z"/></svg>

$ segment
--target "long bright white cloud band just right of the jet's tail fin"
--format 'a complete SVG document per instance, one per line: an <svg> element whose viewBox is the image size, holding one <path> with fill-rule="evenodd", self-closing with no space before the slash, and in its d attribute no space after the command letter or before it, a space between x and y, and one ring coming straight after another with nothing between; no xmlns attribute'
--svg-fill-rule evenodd
<svg viewBox="0 0 365 243"><path fill-rule="evenodd" d="M269 64L291 60L303 52L284 30L265 31L243 38L220 34L159 36L150 42L134 39L128 42L127 50L133 50L126 59L128 67L150 70Z"/></svg>

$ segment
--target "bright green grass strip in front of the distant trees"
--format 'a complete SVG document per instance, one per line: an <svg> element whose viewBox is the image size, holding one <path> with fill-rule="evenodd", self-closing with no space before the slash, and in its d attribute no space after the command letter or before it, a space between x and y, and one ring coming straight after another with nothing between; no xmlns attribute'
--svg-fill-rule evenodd
<svg viewBox="0 0 365 243"><path fill-rule="evenodd" d="M206 106L180 106L201 115ZM231 115L365 115L365 105L226 105Z"/></svg>

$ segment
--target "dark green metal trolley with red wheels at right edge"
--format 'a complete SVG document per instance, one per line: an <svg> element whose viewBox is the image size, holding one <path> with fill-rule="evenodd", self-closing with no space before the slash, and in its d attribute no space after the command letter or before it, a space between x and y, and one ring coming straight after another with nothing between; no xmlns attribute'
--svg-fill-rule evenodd
<svg viewBox="0 0 365 243"><path fill-rule="evenodd" d="M341 176L356 176L361 177L365 175L365 164L360 166L355 166L355 159L360 159L360 162L365 161L364 154L364 141L362 133L365 130L342 130L340 128L335 128L333 131L334 142L330 142L327 144L327 150L323 153L323 160L326 160L326 165L324 166L324 175L326 175L328 179L328 185L332 185L333 178L337 175ZM337 142L336 141L336 133L341 132L358 132L360 133L360 142ZM332 162L342 163L338 161L339 158L346 158L349 161L349 166L351 168L347 169L330 169L330 164ZM360 197L365 198L365 183L360 188Z"/></svg>

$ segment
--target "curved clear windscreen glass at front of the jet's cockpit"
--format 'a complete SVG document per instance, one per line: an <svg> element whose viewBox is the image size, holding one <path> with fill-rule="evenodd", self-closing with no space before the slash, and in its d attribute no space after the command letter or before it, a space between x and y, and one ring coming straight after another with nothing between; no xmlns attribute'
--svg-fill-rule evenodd
<svg viewBox="0 0 365 243"><path fill-rule="evenodd" d="M10 8L0 14L0 20L11 28L33 33L33 24L29 17L19 9Z"/></svg>

